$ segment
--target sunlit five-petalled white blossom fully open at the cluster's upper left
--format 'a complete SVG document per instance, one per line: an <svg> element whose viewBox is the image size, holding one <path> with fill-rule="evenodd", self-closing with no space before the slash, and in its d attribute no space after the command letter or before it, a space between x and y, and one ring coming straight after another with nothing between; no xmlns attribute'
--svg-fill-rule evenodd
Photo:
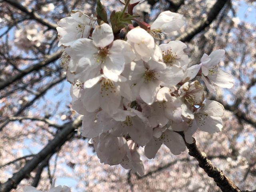
<svg viewBox="0 0 256 192"><path fill-rule="evenodd" d="M75 78L85 82L97 76L102 69L105 76L118 81L124 64L130 63L135 55L127 42L113 40L112 28L102 24L94 29L92 40L81 38L65 48L73 59L74 66L70 67L70 72L76 72Z"/></svg>

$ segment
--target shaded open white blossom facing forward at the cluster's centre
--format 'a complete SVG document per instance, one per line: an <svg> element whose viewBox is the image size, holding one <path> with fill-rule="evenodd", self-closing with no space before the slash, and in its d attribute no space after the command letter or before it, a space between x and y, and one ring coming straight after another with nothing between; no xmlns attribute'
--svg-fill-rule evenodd
<svg viewBox="0 0 256 192"><path fill-rule="evenodd" d="M129 80L134 84L132 91L147 104L152 104L160 86L172 87L183 78L183 71L177 66L166 68L163 62L142 60L131 63Z"/></svg>

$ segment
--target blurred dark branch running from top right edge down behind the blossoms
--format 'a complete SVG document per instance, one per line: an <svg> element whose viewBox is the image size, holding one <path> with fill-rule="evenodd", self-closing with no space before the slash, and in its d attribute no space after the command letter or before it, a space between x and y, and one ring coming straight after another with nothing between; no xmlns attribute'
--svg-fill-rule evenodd
<svg viewBox="0 0 256 192"><path fill-rule="evenodd" d="M181 34L177 40L182 42L190 41L196 34L200 33L207 26L209 26L214 19L216 19L226 2L228 2L228 0L217 0L216 3L212 6L210 12L207 14L206 18L198 22L193 28L190 28L185 33Z"/></svg>

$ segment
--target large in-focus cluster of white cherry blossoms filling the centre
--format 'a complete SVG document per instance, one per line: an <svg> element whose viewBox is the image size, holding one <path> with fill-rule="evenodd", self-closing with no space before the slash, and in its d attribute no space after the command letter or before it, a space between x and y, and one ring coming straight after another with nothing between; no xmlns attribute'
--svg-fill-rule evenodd
<svg viewBox="0 0 256 192"><path fill-rule="evenodd" d="M165 34L184 26L181 14L162 12L149 25L131 13L140 1L120 2L125 8L112 12L111 25L101 4L97 18L73 11L58 22L61 65L72 84L72 108L83 115L80 132L100 162L143 175L138 148L149 159L162 144L178 155L186 146L177 132L192 143L198 129L222 130L224 107L205 99L202 82L213 92L214 86L231 88L233 76L218 66L224 50L189 66L186 44L159 45ZM140 26L134 28L132 20Z"/></svg>

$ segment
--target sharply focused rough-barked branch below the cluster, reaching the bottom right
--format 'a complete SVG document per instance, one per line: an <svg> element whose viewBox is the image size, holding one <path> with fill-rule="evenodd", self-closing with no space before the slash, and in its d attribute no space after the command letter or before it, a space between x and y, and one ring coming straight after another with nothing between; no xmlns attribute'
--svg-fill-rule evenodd
<svg viewBox="0 0 256 192"><path fill-rule="evenodd" d="M215 167L212 162L208 160L207 155L199 150L194 138L194 142L189 144L185 140L184 133L178 133L182 136L186 147L188 148L188 154L196 158L199 166L208 174L209 177L214 179L222 192L241 192L241 190L229 178L227 178L219 168Z"/></svg>

